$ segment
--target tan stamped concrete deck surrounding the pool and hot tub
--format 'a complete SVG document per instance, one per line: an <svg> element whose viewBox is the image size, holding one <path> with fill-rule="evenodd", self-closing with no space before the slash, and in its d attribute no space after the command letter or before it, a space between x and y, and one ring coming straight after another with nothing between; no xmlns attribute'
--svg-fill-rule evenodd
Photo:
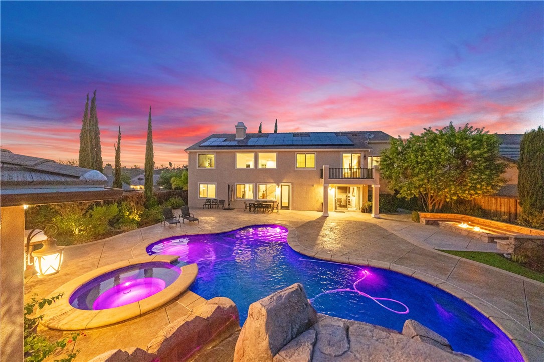
<svg viewBox="0 0 544 362"><path fill-rule="evenodd" d="M435 226L413 223L406 215L372 219L361 213L280 211L248 214L240 210L191 209L200 224L160 224L89 244L67 247L61 271L24 280L25 297L45 297L81 274L104 265L145 255L145 246L168 236L218 233L252 224L277 223L289 229L297 251L326 260L370 264L412 275L452 292L480 310L514 340L527 360L544 356L544 284L490 266L444 254L434 248L496 251L494 244L472 240ZM93 329L79 338L77 360L88 360L112 348L144 348L166 325L187 314L203 299L187 292L152 313L112 327ZM56 337L61 332L46 331Z"/></svg>

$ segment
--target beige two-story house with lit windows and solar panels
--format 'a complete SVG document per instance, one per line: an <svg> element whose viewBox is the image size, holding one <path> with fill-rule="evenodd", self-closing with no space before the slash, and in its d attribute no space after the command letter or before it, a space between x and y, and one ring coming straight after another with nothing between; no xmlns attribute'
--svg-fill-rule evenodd
<svg viewBox="0 0 544 362"><path fill-rule="evenodd" d="M379 217L379 155L390 144L381 131L212 134L185 151L189 154L189 207L207 198L276 201L281 209L360 210L372 195ZM372 192L369 192L372 190Z"/></svg>

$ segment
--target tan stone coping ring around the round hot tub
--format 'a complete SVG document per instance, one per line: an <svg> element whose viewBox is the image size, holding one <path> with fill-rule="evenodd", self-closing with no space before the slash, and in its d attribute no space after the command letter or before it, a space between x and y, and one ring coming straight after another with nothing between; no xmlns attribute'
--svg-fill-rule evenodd
<svg viewBox="0 0 544 362"><path fill-rule="evenodd" d="M177 255L147 255L147 257L133 258L106 265L72 279L48 296L48 298L51 298L62 293L67 297L60 298L51 305L46 305L42 311L43 319L40 324L55 330L87 330L125 322L140 317L159 307L163 307L165 304L168 304L174 298L187 291L189 286L193 284L198 273L198 266L196 264L181 267L180 276L175 282L157 294L118 308L102 310L76 309L70 305L69 296L83 284L105 273L131 265L151 262L172 264L178 259L179 257Z"/></svg>

